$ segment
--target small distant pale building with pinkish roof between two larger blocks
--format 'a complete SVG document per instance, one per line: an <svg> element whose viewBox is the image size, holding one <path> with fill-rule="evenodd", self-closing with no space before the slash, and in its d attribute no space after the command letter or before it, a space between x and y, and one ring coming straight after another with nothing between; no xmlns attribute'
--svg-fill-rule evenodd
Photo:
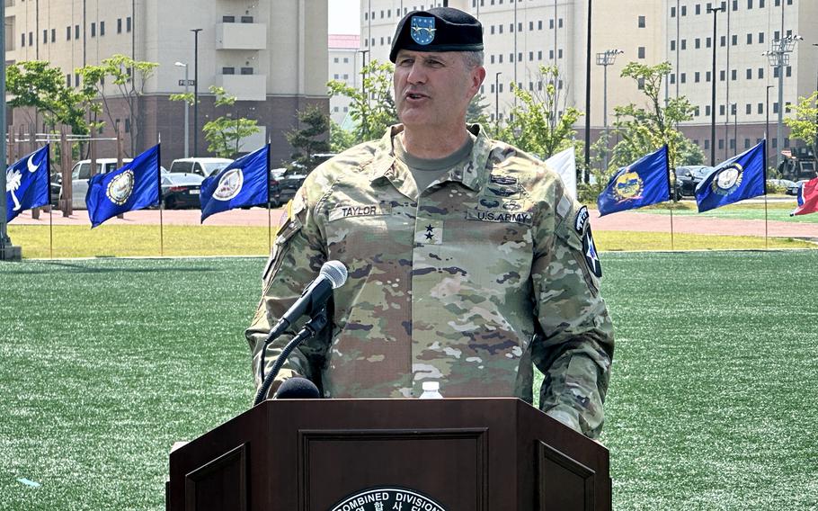
<svg viewBox="0 0 818 511"><path fill-rule="evenodd" d="M360 87L360 68L363 53L360 51L358 34L329 35L329 77L347 85ZM344 129L351 129L353 123L349 118L350 98L333 95L330 98L330 118Z"/></svg>

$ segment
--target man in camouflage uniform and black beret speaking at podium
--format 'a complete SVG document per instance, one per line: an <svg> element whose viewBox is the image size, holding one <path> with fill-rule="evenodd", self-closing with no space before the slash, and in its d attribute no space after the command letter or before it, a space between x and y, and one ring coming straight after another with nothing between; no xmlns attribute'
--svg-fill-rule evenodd
<svg viewBox="0 0 818 511"><path fill-rule="evenodd" d="M541 161L467 126L485 77L482 27L448 7L399 23L390 59L403 124L316 168L289 204L246 336L269 372L304 321L262 354L271 324L321 265L334 291L327 336L290 354L326 398L516 396L598 437L613 327L588 212Z"/></svg>

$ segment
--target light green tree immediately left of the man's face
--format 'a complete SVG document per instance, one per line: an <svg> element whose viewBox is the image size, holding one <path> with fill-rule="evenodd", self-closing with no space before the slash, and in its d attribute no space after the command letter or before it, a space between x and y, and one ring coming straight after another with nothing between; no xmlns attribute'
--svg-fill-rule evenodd
<svg viewBox="0 0 818 511"><path fill-rule="evenodd" d="M356 123L356 143L380 139L389 126L398 122L392 98L394 70L391 63L381 64L378 60L372 60L360 70L361 88L340 80L327 83L331 96L340 94L351 100L350 115Z"/></svg>

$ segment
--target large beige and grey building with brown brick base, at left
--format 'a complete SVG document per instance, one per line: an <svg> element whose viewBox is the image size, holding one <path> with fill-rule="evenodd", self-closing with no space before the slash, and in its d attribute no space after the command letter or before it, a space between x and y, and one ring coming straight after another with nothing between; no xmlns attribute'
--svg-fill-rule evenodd
<svg viewBox="0 0 818 511"><path fill-rule="evenodd" d="M187 65L190 80L198 74L199 126L192 125L191 108L190 146L193 153L194 132L198 132L199 156L208 154L201 126L230 114L255 119L262 126L261 133L245 140L245 151L260 147L270 137L273 159L287 159L292 151L285 133L297 126L297 112L309 104L328 111L327 66L316 65L327 59L326 2L5 2L7 62L49 60L71 86L80 85L77 68L99 64L117 53L159 64L144 85L137 84L144 90L138 101L138 119L130 119L121 94L117 97L117 86L110 80L104 85L108 112L103 114L105 126L100 136L112 137L115 130L122 130L126 147L138 152L155 144L161 134L165 166L174 157L182 157L184 148L183 103L168 99L170 94L185 92L185 69L177 62ZM194 29L201 29L198 44ZM216 107L211 85L236 96L236 104ZM9 122L27 123L29 119L13 113ZM100 157L114 150L112 144L102 144Z"/></svg>

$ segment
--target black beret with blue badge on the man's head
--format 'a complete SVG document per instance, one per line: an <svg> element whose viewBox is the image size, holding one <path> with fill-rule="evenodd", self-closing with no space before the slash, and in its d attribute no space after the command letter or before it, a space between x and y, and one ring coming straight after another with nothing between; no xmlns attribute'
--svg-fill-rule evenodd
<svg viewBox="0 0 818 511"><path fill-rule="evenodd" d="M479 51L483 49L483 25L469 13L452 7L413 11L397 23L389 60L400 49L413 51Z"/></svg>

